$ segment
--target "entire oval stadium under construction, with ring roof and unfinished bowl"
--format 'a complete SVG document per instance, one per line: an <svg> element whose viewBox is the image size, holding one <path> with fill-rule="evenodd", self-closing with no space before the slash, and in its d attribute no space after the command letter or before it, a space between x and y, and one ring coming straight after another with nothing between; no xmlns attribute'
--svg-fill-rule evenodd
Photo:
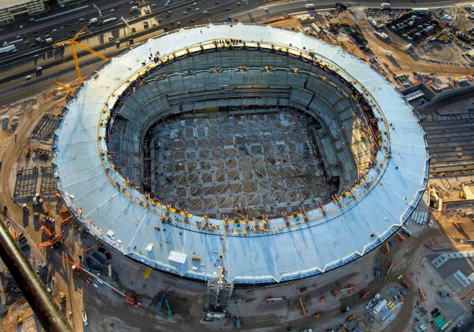
<svg viewBox="0 0 474 332"><path fill-rule="evenodd" d="M103 243L167 273L268 284L324 273L392 235L428 180L425 134L390 81L300 32L180 29L76 90L57 188Z"/></svg>

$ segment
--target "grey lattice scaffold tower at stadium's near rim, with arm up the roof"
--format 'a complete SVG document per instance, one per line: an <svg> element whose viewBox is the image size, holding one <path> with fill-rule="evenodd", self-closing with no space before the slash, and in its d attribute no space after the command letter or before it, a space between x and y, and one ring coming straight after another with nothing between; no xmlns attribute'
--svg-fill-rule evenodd
<svg viewBox="0 0 474 332"><path fill-rule="evenodd" d="M234 284L229 283L224 279L227 272L224 268L224 254L227 248L227 234L224 231L222 244L222 265L219 266L219 277L217 281L208 281L208 302L207 306L215 311L227 310L230 305L230 297L234 289Z"/></svg>

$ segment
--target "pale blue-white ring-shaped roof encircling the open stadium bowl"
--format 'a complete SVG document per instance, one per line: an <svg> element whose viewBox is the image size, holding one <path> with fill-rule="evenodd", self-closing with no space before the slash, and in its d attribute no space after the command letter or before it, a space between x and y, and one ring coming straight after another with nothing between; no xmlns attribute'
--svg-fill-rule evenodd
<svg viewBox="0 0 474 332"><path fill-rule="evenodd" d="M124 179L114 171L106 155L105 126L109 105L126 88L127 81L143 73L150 52L172 54L202 41L233 39L290 45L313 52L328 66L370 95L386 150L379 151L378 169L366 176L369 188L355 187L351 198L308 213L310 222L271 221L268 233L223 236L220 230L196 227L200 216L188 223L174 214L162 226L163 206L147 208L138 191L121 191ZM255 42L256 43L256 42ZM304 48L306 51L303 51ZM305 53L306 54L306 53ZM104 110L104 112L102 112ZM381 113L378 113L381 111ZM390 124L390 125L388 125ZM65 107L56 131L52 164L58 190L81 223L117 251L153 267L200 280L216 280L223 240L226 279L236 283L271 283L316 275L361 257L393 234L418 204L428 178L428 150L424 132L411 107L390 83L361 59L340 47L303 33L268 25L216 24L198 26L152 38L111 59L88 78ZM155 226L159 226L157 231ZM172 253L174 252L174 253ZM182 254L182 255L176 255ZM184 256L186 255L186 257ZM194 256L200 259L195 260ZM183 259L184 258L184 259ZM183 262L182 262L183 261Z"/></svg>

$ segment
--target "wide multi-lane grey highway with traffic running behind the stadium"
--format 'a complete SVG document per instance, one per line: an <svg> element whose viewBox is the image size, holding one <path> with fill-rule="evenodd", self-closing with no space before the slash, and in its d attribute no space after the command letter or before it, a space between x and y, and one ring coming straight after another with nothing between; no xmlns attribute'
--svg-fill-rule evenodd
<svg viewBox="0 0 474 332"><path fill-rule="evenodd" d="M121 16L126 18L129 24L136 29L136 33L133 34L133 43L137 44L142 40L163 33L165 30L172 31L175 28L188 25L223 21L231 22L234 19L241 22L256 22L265 18L278 17L282 13L305 12L305 6L308 3L314 3L316 10L332 8L335 4L334 1L324 0L317 2L299 0L277 3L270 1L262 2L260 0L241 0L241 2L240 5L237 5L238 1L235 0L173 0L169 6L164 6L165 0L140 2L141 14L139 15L136 12L130 12L130 7L133 5L130 5L129 2L102 1L96 2L96 5L104 14L101 19L110 17L120 18ZM193 3L197 3L197 5L193 5ZM378 8L382 1L369 0L363 3L345 1L344 3L348 5L357 4L358 7ZM457 2L439 0L434 2L392 1L391 3L394 8L412 8L428 6L428 3L430 7L452 6ZM58 15L62 13L60 11L41 15L41 17L46 18L57 15L48 19L41 20L41 17L38 17L33 22L22 23L22 34L18 33L18 28L15 30L10 28L10 31L8 28L5 28L5 31L2 32L2 40L10 41L19 34L21 37L26 36L26 39L29 38L29 40L34 41L35 31L42 37L44 37L45 32L48 32L54 42L68 40L73 34L72 29L77 32L90 18L97 17L98 12L92 5L84 8L87 4L79 3L76 6L65 8L62 12L79 8L79 10L68 12L66 20L64 20L64 15ZM156 6L152 6L153 4ZM263 6L266 6L268 11L264 11ZM199 8L199 10L196 11L196 8ZM228 8L230 10L227 11ZM111 9L114 9L114 12L111 13ZM149 10L150 14L146 14L145 10ZM202 12L205 10L209 11L210 14L203 14ZM171 11L171 13L168 14L168 11ZM186 12L186 14L183 12ZM80 22L80 18L84 18L84 20ZM58 21L60 23L57 23ZM145 29L143 21L149 22L150 27ZM180 22L180 24L176 25L176 22ZM61 29L61 23L66 24L67 27ZM156 25L154 26L154 24ZM92 24L90 28L92 28L91 34L86 33L82 35L78 41L106 56L115 56L130 47L129 38L132 36L123 22L113 23L108 26ZM52 33L52 29L57 29L57 31ZM119 44L115 44L117 40L120 40ZM6 105L43 90L53 88L55 87L54 80L69 82L75 79L76 75L69 47L62 51L54 51L51 45L28 48L31 44L31 42L29 45L21 42L22 46L20 47L20 44L18 44L19 51L17 53L3 54L0 57L0 68L2 69L2 75L0 76L0 105ZM33 57L34 54L38 54L38 57ZM101 59L81 49L78 49L78 55L81 73L84 77L103 64ZM42 70L36 71L37 67L41 67ZM31 75L32 79L25 81L26 75Z"/></svg>

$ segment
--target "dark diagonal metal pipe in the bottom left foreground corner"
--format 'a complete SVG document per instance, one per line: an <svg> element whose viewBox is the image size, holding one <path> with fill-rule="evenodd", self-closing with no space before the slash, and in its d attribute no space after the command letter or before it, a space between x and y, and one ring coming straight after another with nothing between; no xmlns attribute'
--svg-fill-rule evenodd
<svg viewBox="0 0 474 332"><path fill-rule="evenodd" d="M4 224L0 227L0 257L43 328L51 332L73 332Z"/></svg>

